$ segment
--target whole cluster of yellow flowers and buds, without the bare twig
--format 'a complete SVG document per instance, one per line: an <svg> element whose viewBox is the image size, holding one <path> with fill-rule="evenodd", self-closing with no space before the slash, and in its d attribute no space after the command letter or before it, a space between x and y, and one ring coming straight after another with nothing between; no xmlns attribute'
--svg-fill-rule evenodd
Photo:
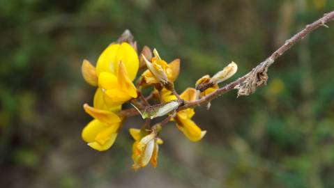
<svg viewBox="0 0 334 188"><path fill-rule="evenodd" d="M206 134L194 121L192 116L195 111L192 108L176 111L187 102L194 102L199 97L204 97L217 90L218 83L231 77L236 72L236 64L230 63L227 68L218 72L212 78L208 75L199 79L196 87L201 85L204 91L195 88L187 88L181 95L174 91L174 81L179 75L180 60L175 59L171 63L164 61L158 51L144 47L140 56L137 54L135 42L128 40L129 32L122 36L123 40L109 45L94 67L89 61L82 63L82 75L86 82L96 87L93 97L93 107L84 104L84 111L93 120L82 130L82 139L91 148L104 151L114 144L126 113L121 111L122 104L129 102L139 111L142 118L168 117L161 123L153 126L146 121L142 129L130 128L130 134L135 139L132 146L133 169L137 170L149 164L157 166L158 145L162 140L158 138L163 124L172 120L176 127L190 141L199 141ZM120 39L121 39L120 38ZM124 40L125 39L125 40ZM137 76L139 68L146 67L139 77L137 87L132 81ZM204 87L207 84L208 87ZM142 88L153 87L153 94L149 100L155 99L160 104L149 104L149 101L141 94ZM200 94L200 95L199 95ZM133 111L132 111L133 112ZM135 111L136 112L136 111Z"/></svg>

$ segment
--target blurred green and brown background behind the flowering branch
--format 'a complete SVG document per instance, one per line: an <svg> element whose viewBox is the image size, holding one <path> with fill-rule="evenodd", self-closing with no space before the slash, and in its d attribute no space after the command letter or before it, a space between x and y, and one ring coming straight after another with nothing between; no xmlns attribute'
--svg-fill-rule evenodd
<svg viewBox="0 0 334 188"><path fill-rule="evenodd" d="M230 61L232 79L244 75L333 9L330 0L1 0L0 187L334 187L334 22L279 58L254 95L231 91L197 108L202 141L169 123L156 169L131 169L138 117L107 152L80 136L94 93L82 60L96 62L125 29L139 49L181 58L181 93Z"/></svg>

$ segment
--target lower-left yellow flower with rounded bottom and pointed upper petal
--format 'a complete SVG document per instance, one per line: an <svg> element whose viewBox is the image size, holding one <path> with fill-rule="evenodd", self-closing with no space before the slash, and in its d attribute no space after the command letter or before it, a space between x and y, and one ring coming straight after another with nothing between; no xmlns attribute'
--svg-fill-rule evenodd
<svg viewBox="0 0 334 188"><path fill-rule="evenodd" d="M84 110L95 119L82 130L82 139L98 151L112 147L121 125L121 118L110 111L89 107L88 104L84 104Z"/></svg>

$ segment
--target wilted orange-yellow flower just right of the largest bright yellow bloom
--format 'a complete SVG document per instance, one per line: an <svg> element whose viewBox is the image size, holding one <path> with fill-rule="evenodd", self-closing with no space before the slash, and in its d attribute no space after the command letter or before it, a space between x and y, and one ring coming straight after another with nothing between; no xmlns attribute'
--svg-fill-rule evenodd
<svg viewBox="0 0 334 188"><path fill-rule="evenodd" d="M172 63L167 64L160 58L156 49L153 50L154 57L151 58L151 62L148 61L145 56L144 61L146 62L148 70L146 70L142 77L146 84L167 84L168 82L174 82L179 76L180 60L175 59Z"/></svg>

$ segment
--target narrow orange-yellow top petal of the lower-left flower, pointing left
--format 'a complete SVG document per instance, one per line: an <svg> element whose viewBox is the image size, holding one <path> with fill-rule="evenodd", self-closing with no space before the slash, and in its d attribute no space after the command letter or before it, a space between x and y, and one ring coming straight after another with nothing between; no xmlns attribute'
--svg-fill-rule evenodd
<svg viewBox="0 0 334 188"><path fill-rule="evenodd" d="M109 125L121 122L121 118L119 118L119 116L117 116L115 113L95 109L93 107L89 107L88 104L84 104L84 111L86 111L86 113L89 113L89 115L91 115L93 118L96 118L101 122L107 123Z"/></svg>

